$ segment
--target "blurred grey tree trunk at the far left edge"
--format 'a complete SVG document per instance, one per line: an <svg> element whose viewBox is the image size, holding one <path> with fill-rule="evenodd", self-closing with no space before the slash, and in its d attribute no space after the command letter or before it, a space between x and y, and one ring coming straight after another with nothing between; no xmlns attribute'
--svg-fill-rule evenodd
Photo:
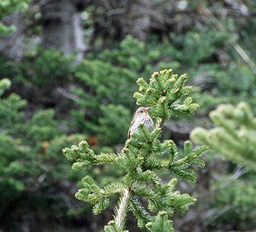
<svg viewBox="0 0 256 232"><path fill-rule="evenodd" d="M23 54L22 43L24 39L21 13L12 13L2 21L7 26L16 26L16 31L8 36L0 36L0 53L11 59L21 59Z"/></svg>

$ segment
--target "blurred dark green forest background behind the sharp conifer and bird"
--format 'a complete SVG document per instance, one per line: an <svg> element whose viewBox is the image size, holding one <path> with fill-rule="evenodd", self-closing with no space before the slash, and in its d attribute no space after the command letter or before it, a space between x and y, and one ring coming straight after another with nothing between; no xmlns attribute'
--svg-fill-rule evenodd
<svg viewBox="0 0 256 232"><path fill-rule="evenodd" d="M96 151L120 150L141 76L188 74L200 110L165 125L177 144L196 126L212 128L220 104L247 102L255 113L255 16L249 0L1 0L0 231L96 232L111 219L75 199L85 173L61 149L88 140ZM179 186L198 202L174 219L177 231L255 231L255 144L243 141L230 142L229 161L212 150L198 182ZM106 184L120 172L92 175Z"/></svg>

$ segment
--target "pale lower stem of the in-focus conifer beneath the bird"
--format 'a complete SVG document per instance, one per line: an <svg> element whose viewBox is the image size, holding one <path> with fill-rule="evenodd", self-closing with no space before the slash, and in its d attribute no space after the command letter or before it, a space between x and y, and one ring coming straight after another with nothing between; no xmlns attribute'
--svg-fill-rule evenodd
<svg viewBox="0 0 256 232"><path fill-rule="evenodd" d="M123 231L125 225L125 219L128 211L128 203L131 197L131 189L126 188L123 192L123 196L119 201L118 209L116 210L115 223L118 226L118 230Z"/></svg>

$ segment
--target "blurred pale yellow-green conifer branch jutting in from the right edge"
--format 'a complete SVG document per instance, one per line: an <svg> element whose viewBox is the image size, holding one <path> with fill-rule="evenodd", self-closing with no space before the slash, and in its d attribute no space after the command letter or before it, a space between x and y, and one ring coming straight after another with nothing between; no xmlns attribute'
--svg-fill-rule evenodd
<svg viewBox="0 0 256 232"><path fill-rule="evenodd" d="M237 107L220 105L210 113L215 128L197 128L191 132L192 140L207 144L225 159L256 170L256 118L249 105L241 102Z"/></svg>

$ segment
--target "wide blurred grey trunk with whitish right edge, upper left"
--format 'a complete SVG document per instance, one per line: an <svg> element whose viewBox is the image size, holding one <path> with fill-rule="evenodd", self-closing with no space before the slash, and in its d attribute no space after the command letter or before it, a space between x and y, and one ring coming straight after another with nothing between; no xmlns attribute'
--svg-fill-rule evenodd
<svg viewBox="0 0 256 232"><path fill-rule="evenodd" d="M42 45L63 50L65 54L77 52L82 59L85 51L84 32L80 11L85 8L82 0L48 0L41 6Z"/></svg>

